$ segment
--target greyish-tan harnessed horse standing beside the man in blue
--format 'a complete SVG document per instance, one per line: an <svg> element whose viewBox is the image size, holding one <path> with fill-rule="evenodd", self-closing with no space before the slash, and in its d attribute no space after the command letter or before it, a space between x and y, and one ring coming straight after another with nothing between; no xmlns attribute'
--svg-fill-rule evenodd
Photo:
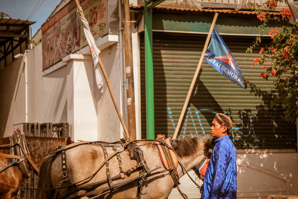
<svg viewBox="0 0 298 199"><path fill-rule="evenodd" d="M211 139L204 136L171 140L173 149L179 157L177 167L179 178L199 166L204 153L206 155L207 150L211 148ZM174 180L170 170L165 169L162 164L158 147L153 141L135 141L135 143L142 150L150 172L142 172L144 167L136 167L136 160L127 155L122 145L115 144L111 147L106 144L103 148L100 144L81 144L65 150L64 172L67 173L67 177L63 178L63 160L60 152L44 159L37 185L38 189L44 190L37 191L37 198L49 199L53 195L59 199L84 196L117 199L167 198L174 187ZM142 178L144 173L146 176ZM111 176L112 182L107 180L108 175ZM53 189L56 189L56 192Z"/></svg>

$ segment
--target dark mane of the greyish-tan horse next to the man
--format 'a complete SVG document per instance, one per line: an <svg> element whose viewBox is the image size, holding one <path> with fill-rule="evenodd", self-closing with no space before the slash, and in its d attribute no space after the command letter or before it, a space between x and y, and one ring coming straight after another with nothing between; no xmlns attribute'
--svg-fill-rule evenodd
<svg viewBox="0 0 298 199"><path fill-rule="evenodd" d="M212 137L178 138L171 140L171 144L179 157L192 157L195 155L194 151L198 150L198 146L212 148Z"/></svg>

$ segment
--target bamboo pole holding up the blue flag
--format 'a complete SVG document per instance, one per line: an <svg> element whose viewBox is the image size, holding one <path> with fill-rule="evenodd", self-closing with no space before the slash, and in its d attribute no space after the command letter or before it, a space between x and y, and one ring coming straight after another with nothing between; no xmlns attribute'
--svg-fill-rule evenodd
<svg viewBox="0 0 298 199"><path fill-rule="evenodd" d="M200 71L200 68L201 68L201 65L202 65L202 62L203 62L203 59L204 59L204 55L205 55L205 53L206 53L206 50L207 50L207 47L208 47L208 44L209 44L209 41L210 41L210 38L211 38L211 34L212 34L212 31L213 31L213 28L214 28L214 25L215 25L217 16L218 16L218 13L215 13L215 16L214 16L214 18L213 18L213 21L212 21L212 24L211 24L211 27L210 27L210 30L209 30L209 33L208 33L208 36L207 36L207 39L206 39L204 48L203 48L203 52L202 52L200 61L199 61L199 63L198 63L197 69L195 70L195 75L193 76L193 81L191 82L191 84L190 84L190 89L188 90L188 93L187 93L187 96L186 96L186 99L185 99L185 102L184 102L184 106L183 106L183 109L182 109L182 112L181 112L181 115L180 115L180 118L179 118L179 121L178 121L176 130L175 130L175 133L174 133L174 135L173 135L173 139L176 139L177 134L178 134L178 131L179 131L179 129L180 129L180 125L181 125L181 122L182 122L182 119L183 119L185 110L186 110L186 108L187 108L187 104L188 104L188 101L189 101L189 99L190 99L190 95L191 95L191 93L193 92L193 87L194 87L194 85L195 85L195 80L196 80L197 77L198 77L198 73L199 73L199 71Z"/></svg>

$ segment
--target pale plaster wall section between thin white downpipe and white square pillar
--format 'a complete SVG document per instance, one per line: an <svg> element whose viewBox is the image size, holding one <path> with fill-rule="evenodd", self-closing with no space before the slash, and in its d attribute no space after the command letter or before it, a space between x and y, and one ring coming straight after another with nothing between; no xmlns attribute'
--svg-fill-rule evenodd
<svg viewBox="0 0 298 199"><path fill-rule="evenodd" d="M66 67L43 76L41 63L40 44L27 53L27 122L67 122Z"/></svg>

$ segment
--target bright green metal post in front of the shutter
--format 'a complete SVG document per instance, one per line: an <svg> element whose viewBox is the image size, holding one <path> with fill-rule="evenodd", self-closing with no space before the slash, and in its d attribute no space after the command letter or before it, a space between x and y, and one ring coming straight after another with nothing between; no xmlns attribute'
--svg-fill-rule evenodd
<svg viewBox="0 0 298 199"><path fill-rule="evenodd" d="M147 139L155 139L154 134L154 89L153 89L153 50L152 50L152 9L147 9L145 2L145 73L146 73L146 117L147 117Z"/></svg>

